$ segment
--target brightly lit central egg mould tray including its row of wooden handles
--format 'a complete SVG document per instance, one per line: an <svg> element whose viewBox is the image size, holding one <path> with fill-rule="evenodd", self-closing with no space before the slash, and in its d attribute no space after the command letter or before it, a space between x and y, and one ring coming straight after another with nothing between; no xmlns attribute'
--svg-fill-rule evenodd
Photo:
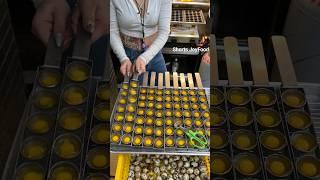
<svg viewBox="0 0 320 180"><path fill-rule="evenodd" d="M142 85L124 82L110 121L111 151L209 155L208 93L198 73L146 72ZM186 134L189 130L205 137L206 145L195 147Z"/></svg>

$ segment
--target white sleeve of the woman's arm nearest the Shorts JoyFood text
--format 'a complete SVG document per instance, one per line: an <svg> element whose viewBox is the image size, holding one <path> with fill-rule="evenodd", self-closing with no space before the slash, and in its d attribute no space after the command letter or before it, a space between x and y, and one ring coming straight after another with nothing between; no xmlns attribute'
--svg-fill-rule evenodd
<svg viewBox="0 0 320 180"><path fill-rule="evenodd" d="M171 0L161 0L157 38L150 45L150 47L139 56L139 58L141 58L146 64L148 64L153 57L159 53L168 40L170 33L171 13Z"/></svg>

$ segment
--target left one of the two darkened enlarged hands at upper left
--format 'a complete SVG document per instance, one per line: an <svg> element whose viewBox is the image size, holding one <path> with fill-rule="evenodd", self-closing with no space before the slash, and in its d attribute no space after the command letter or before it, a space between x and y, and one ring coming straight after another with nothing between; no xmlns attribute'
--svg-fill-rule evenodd
<svg viewBox="0 0 320 180"><path fill-rule="evenodd" d="M71 40L71 28L67 27L70 8L66 0L43 0L32 21L33 33L48 44L52 33L58 47Z"/></svg>

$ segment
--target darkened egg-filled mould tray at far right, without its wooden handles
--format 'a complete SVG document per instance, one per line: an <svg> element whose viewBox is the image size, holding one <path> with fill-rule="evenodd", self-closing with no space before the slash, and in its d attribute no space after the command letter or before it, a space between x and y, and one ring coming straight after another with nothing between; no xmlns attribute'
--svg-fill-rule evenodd
<svg viewBox="0 0 320 180"><path fill-rule="evenodd" d="M319 179L319 150L300 89L212 88L213 177Z"/></svg>

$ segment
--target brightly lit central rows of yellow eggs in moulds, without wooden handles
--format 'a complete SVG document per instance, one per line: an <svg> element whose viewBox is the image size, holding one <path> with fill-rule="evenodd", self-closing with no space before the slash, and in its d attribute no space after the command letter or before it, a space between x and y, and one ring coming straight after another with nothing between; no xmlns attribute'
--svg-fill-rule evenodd
<svg viewBox="0 0 320 180"><path fill-rule="evenodd" d="M158 89L124 83L112 117L111 142L136 148L194 148L180 126L209 139L204 90Z"/></svg>

